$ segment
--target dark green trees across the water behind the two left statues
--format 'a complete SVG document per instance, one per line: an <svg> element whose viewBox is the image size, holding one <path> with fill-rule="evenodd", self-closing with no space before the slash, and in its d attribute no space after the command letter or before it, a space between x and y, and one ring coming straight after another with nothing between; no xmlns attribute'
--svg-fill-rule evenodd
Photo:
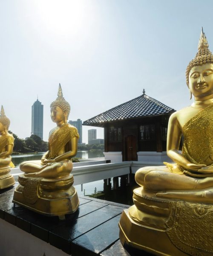
<svg viewBox="0 0 213 256"><path fill-rule="evenodd" d="M9 131L14 137L14 152L30 153L30 152L45 152L48 150L48 143L41 140L37 135L31 135L26 140L20 139L16 134Z"/></svg>

